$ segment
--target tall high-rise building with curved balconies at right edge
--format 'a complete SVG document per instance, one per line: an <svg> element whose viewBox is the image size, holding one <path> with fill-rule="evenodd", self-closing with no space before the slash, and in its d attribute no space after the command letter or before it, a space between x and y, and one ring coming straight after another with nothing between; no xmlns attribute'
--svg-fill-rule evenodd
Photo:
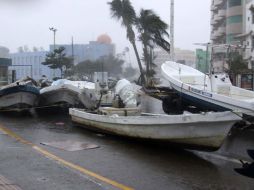
<svg viewBox="0 0 254 190"><path fill-rule="evenodd" d="M234 84L254 89L254 0L212 0L211 12L212 44L236 45L250 69L233 79ZM225 48L214 54L215 72L228 68L226 54Z"/></svg>

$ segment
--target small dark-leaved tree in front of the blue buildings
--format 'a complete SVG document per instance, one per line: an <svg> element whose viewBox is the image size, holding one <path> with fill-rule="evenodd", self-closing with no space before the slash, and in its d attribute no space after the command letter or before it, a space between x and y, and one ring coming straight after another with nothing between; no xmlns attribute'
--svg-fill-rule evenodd
<svg viewBox="0 0 254 190"><path fill-rule="evenodd" d="M51 69L60 69L61 77L64 69L66 70L73 66L73 58L66 57L64 50L64 47L55 49L53 52L48 53L45 61L42 62L43 65L47 65Z"/></svg>

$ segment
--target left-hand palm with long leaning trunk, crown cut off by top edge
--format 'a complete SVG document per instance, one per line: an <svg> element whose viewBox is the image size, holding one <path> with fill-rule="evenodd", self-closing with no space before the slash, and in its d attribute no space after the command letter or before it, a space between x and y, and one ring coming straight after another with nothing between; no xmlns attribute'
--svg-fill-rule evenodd
<svg viewBox="0 0 254 190"><path fill-rule="evenodd" d="M117 20L121 20L122 26L126 27L127 29L127 39L132 44L138 61L138 66L141 74L141 83L145 84L145 76L135 42L135 33L132 28L136 22L135 10L129 0L112 0L112 2L109 2L108 4L110 5L112 17Z"/></svg>

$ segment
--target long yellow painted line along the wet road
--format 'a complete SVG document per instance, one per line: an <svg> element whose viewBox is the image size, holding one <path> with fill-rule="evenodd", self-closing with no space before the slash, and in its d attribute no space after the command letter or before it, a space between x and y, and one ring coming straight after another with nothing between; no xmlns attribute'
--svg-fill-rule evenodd
<svg viewBox="0 0 254 190"><path fill-rule="evenodd" d="M73 164L73 163L71 163L71 162L68 162L68 161L66 161L66 160L64 160L64 159L62 159L62 158L60 158L60 157L58 157L58 156L56 156L56 155L54 155L54 154L48 152L47 150L45 150L45 149L43 149L43 148L41 148L41 147L39 147L39 146L37 146L37 145L35 145L35 144L33 144L33 143L27 141L27 140L25 140L25 139L23 139L22 137L20 137L19 135L17 135L16 133L14 133L13 131L11 131L10 129L7 129L6 127L3 127L2 125L0 125L0 131L6 133L8 136L10 136L10 137L16 139L17 141L19 141L19 142L21 142L21 143L23 143L23 144L25 144L25 145L31 146L34 150L36 150L37 152L41 153L41 154L44 155L45 157L50 158L50 159L52 159L52 160L55 160L55 161L57 161L58 163L61 163L61 164L63 164L64 166L67 166L67 167L69 167L69 168L71 168L71 169L74 169L74 170L76 170L76 171L79 171L79 172L81 172L82 174L85 174L85 175L88 175L88 176L90 176L90 177L93 177L93 178L95 178L95 179L97 179L97 180L100 180L100 181L102 181L102 182L105 182L105 183L107 183L107 184L109 184L109 185L112 185L112 186L114 186L114 187L116 187L116 188L118 188L118 189L121 189L121 190L134 190L134 189L131 188L131 187L127 187L127 186L125 186L125 185L123 185L123 184L120 184L120 183L118 183L118 182L116 182L116 181L113 181L113 180L111 180L111 179L108 179L108 178L106 178L106 177L103 177L103 176L101 176L101 175L99 175L99 174L96 174L96 173L94 173L94 172L92 172L92 171L90 171L90 170L88 170L88 169L85 169L85 168L83 168L83 167L81 167L81 166L78 166L78 165L76 165L76 164Z"/></svg>

